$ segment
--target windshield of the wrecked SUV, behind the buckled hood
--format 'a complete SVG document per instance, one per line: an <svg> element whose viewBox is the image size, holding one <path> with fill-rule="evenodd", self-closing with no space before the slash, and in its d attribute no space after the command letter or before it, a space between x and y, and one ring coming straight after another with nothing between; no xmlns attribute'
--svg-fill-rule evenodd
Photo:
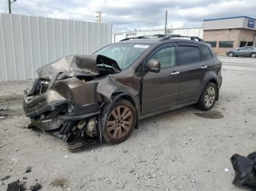
<svg viewBox="0 0 256 191"><path fill-rule="evenodd" d="M105 55L118 63L121 70L129 68L145 52L149 44L110 44L94 53Z"/></svg>

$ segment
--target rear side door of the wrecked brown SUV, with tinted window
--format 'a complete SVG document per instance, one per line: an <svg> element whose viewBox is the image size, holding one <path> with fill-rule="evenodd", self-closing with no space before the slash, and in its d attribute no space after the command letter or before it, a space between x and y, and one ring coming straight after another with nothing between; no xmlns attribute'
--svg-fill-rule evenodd
<svg viewBox="0 0 256 191"><path fill-rule="evenodd" d="M206 46L199 47L195 43L178 44L178 64L181 66L181 85L178 95L178 105L197 101L203 86L203 78L208 70L208 61L212 58ZM208 58L203 61L200 48L208 51ZM207 60L208 59L208 60Z"/></svg>

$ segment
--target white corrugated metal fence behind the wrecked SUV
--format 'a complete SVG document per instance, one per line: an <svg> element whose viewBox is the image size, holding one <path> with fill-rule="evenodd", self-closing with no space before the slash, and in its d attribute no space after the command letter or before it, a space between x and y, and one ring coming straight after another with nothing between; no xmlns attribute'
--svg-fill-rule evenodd
<svg viewBox="0 0 256 191"><path fill-rule="evenodd" d="M63 55L90 54L111 43L111 25L25 15L0 15L0 81L37 77Z"/></svg>

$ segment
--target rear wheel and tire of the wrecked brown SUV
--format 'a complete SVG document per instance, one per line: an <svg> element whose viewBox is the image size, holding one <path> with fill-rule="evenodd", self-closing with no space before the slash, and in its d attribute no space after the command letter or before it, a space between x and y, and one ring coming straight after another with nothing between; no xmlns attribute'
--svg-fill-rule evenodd
<svg viewBox="0 0 256 191"><path fill-rule="evenodd" d="M212 109L217 99L217 93L216 85L212 82L208 82L206 87L203 88L203 92L197 102L197 107L205 111Z"/></svg>

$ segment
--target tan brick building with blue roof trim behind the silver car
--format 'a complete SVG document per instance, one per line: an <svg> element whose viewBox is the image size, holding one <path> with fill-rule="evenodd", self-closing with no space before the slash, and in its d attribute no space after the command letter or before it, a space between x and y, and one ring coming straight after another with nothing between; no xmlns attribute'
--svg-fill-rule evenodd
<svg viewBox="0 0 256 191"><path fill-rule="evenodd" d="M203 39L217 54L236 47L256 46L255 23L254 18L245 16L203 20Z"/></svg>

